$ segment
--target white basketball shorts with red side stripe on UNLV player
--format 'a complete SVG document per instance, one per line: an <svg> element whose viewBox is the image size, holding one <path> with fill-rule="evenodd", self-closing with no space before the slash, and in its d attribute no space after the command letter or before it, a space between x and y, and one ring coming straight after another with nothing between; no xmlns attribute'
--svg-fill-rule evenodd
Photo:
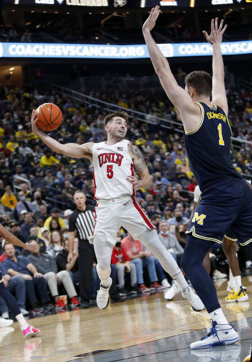
<svg viewBox="0 0 252 362"><path fill-rule="evenodd" d="M94 235L96 235L102 241L109 241L115 245L117 231L121 226L135 240L138 240L137 237L147 229L156 228L146 211L134 197L114 204L104 204L97 201L95 207L95 227L89 242L93 244Z"/></svg>

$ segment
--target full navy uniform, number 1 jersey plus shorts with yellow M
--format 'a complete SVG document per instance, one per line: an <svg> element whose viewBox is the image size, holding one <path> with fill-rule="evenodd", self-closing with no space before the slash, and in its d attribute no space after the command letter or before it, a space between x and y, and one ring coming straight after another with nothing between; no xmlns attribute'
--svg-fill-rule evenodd
<svg viewBox="0 0 252 362"><path fill-rule="evenodd" d="M186 233L221 243L230 230L247 245L252 241L252 193L231 161L229 121L220 107L196 104L201 120L194 131L184 132L184 144L201 202Z"/></svg>

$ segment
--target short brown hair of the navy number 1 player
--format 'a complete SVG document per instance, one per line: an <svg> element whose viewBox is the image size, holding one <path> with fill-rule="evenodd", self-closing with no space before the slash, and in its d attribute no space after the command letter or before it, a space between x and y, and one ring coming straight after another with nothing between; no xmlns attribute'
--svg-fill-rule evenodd
<svg viewBox="0 0 252 362"><path fill-rule="evenodd" d="M199 96L208 96L212 94L212 78L209 73L203 70L196 70L187 74L184 83L189 89L193 87Z"/></svg>

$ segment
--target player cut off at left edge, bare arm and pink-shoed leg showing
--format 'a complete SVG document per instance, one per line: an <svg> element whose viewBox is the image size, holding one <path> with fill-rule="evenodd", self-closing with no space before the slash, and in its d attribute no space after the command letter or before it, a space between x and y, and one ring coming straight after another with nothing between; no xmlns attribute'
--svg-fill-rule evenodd
<svg viewBox="0 0 252 362"><path fill-rule="evenodd" d="M2 224L0 224L0 235L10 244L17 245L19 247L25 248L29 251L35 251L34 245L31 244L24 244L21 240L17 239L12 233L6 230ZM22 315L17 301L12 294L6 289L4 285L4 277L0 271L0 296L3 298L6 306L10 309L13 315L16 317L21 331L23 332L23 336L25 338L30 338L36 336L40 331L33 327L33 325L29 325L24 316Z"/></svg>

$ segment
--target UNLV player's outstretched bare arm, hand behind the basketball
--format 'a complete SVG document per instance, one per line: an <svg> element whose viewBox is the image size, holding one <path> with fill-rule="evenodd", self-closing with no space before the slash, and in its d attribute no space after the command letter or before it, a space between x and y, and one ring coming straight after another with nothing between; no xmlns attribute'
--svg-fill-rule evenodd
<svg viewBox="0 0 252 362"><path fill-rule="evenodd" d="M69 157L88 157L92 155L92 146L94 143L88 142L84 144L76 144L76 143L67 143L61 144L55 139L47 136L42 131L40 131L39 127L36 125L38 118L36 118L36 111L32 110L31 116L31 126L32 131L37 135L48 147L50 147L56 153L62 153L63 155Z"/></svg>

